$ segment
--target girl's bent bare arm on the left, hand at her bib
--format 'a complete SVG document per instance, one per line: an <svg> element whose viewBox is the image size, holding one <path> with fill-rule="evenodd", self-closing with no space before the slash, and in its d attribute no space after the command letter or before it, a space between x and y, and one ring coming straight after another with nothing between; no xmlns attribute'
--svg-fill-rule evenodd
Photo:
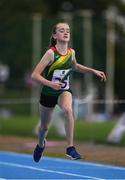
<svg viewBox="0 0 125 180"><path fill-rule="evenodd" d="M42 76L44 69L53 62L53 59L54 59L54 54L52 50L51 49L47 50L44 56L42 57L42 59L40 60L40 62L34 68L31 74L31 78L37 82L40 82L45 86L49 86L53 89L58 90L61 88L61 83L49 81Z"/></svg>

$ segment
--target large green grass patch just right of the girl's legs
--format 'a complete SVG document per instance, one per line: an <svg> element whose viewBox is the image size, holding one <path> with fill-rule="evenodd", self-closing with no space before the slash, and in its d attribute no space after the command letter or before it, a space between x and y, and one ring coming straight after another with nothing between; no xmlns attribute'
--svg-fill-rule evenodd
<svg viewBox="0 0 125 180"><path fill-rule="evenodd" d="M77 121L75 123L75 138L81 141L104 143L114 124L113 121Z"/></svg>

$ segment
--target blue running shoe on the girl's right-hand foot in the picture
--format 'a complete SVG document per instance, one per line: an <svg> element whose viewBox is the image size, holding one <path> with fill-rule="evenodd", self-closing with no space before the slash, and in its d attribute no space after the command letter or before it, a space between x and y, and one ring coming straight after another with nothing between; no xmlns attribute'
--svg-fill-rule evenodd
<svg viewBox="0 0 125 180"><path fill-rule="evenodd" d="M70 157L73 160L81 159L80 154L76 151L74 146L68 147L66 149L66 156Z"/></svg>

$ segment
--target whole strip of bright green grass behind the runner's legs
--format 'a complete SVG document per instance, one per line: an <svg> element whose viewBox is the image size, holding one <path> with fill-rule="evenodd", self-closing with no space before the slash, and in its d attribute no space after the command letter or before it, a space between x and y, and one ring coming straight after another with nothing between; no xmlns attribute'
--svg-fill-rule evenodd
<svg viewBox="0 0 125 180"><path fill-rule="evenodd" d="M9 119L0 118L1 135L16 135L33 137L33 130L37 124L37 117L12 117ZM82 142L106 143L106 138L115 125L115 121L93 122L76 120L74 139ZM49 139L64 139L58 135L52 126L48 133ZM125 138L120 145L125 145Z"/></svg>

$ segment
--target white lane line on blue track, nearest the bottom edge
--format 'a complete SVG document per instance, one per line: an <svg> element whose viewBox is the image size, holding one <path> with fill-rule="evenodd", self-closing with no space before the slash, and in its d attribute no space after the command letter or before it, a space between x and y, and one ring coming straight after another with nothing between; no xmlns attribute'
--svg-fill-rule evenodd
<svg viewBox="0 0 125 180"><path fill-rule="evenodd" d="M74 176L74 177L80 177L80 178L89 178L89 179L91 178L91 179L94 179L94 180L105 180L105 179L97 178L97 177L93 177L93 176L84 176L82 174L74 174L74 173L67 173L67 172L62 172L62 171L54 171L54 170L36 168L36 167L33 167L33 166L15 164L15 163L10 163L10 162L2 162L2 161L0 161L0 164L4 165L4 166L11 166L11 167L17 167L17 168L25 168L25 169L35 170L35 171L55 173L55 174Z"/></svg>

